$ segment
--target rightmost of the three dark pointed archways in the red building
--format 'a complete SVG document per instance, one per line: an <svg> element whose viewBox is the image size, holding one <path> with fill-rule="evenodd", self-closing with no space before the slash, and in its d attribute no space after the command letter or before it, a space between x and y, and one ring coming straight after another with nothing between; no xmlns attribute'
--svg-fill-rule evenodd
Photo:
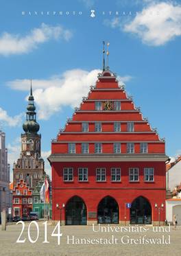
<svg viewBox="0 0 181 256"><path fill-rule="evenodd" d="M132 202L130 224L152 224L152 207L143 196L139 196Z"/></svg>

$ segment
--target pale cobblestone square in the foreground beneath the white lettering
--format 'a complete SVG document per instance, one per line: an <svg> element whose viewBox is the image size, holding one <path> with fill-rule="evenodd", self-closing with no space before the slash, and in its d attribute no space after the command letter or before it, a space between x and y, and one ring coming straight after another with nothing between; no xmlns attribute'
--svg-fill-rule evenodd
<svg viewBox="0 0 181 256"><path fill-rule="evenodd" d="M28 226L30 222L25 223L25 229L20 237L20 240L25 240L24 243L16 243L16 240L21 234L21 224L10 224L6 231L0 231L0 255L60 255L60 256L106 256L106 255L180 255L180 237L181 227L178 226L175 230L171 226L170 232L153 232L152 226L145 226L146 232L137 232L136 229L132 232L120 231L121 226L101 225L104 231L99 231L99 226L61 226L60 245L58 245L58 237L51 236L56 225L47 225L47 241L45 240L45 232L43 222L37 222L39 226L38 240L32 244L28 240ZM140 226L139 226L140 228ZM32 240L36 240L36 226L31 224L30 236ZM96 232L95 232L96 231ZM57 231L56 231L57 232ZM156 239L160 238L161 244L147 244L145 238ZM166 244L162 244L163 236ZM170 236L170 243L168 237ZM69 237L69 238L68 238ZM121 242L121 237L123 240ZM129 241L129 244L127 242ZM136 241L136 244L135 242ZM113 242L113 244L112 244ZM117 243L115 243L117 242ZM141 244L139 244L141 242Z"/></svg>

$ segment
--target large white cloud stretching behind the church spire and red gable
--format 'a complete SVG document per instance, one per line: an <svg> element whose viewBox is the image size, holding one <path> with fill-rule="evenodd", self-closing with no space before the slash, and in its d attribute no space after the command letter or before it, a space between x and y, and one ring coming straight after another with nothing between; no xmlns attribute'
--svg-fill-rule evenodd
<svg viewBox="0 0 181 256"><path fill-rule="evenodd" d="M95 84L97 74L82 69L65 71L62 75L53 75L48 80L33 80L34 98L38 105L38 119L49 119L64 106L79 106L82 97L86 96L89 86ZM123 84L130 76L119 77ZM7 83L12 89L29 91L29 80L14 80Z"/></svg>

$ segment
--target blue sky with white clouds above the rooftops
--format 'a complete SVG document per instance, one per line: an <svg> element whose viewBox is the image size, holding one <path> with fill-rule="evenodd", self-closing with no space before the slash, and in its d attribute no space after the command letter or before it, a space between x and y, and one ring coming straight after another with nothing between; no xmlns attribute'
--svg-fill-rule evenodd
<svg viewBox="0 0 181 256"><path fill-rule="evenodd" d="M180 17L176 1L1 1L0 127L10 163L19 156L30 78L46 158L95 83L103 40L110 42L110 69L165 137L167 155L180 154Z"/></svg>

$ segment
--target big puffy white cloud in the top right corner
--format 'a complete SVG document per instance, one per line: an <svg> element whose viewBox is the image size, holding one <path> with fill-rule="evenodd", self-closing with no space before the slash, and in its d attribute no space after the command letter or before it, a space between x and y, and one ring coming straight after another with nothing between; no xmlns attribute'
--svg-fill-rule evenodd
<svg viewBox="0 0 181 256"><path fill-rule="evenodd" d="M121 27L121 24L117 26ZM181 35L181 5L150 3L130 23L125 24L123 30L136 34L147 45L164 45Z"/></svg>

